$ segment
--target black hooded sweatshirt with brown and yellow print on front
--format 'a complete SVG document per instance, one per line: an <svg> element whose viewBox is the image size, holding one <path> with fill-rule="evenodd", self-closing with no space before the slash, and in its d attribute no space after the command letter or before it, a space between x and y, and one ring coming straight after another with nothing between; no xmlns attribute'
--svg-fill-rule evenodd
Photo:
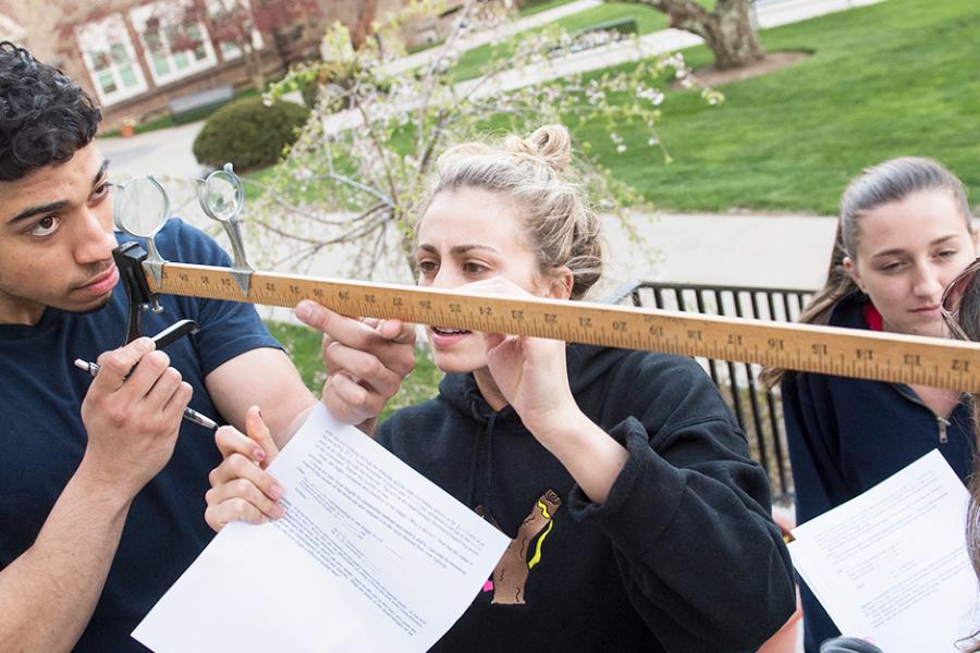
<svg viewBox="0 0 980 653"><path fill-rule="evenodd" d="M471 374L379 441L514 542L432 651L755 651L795 608L769 481L690 359L567 348L579 408L629 456L592 504Z"/></svg>

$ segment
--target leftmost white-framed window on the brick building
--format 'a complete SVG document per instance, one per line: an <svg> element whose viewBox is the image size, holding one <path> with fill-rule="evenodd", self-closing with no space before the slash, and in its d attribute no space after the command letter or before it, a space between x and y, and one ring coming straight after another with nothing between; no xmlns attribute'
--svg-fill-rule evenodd
<svg viewBox="0 0 980 653"><path fill-rule="evenodd" d="M130 33L120 14L88 23L75 33L96 95L112 104L146 91Z"/></svg>

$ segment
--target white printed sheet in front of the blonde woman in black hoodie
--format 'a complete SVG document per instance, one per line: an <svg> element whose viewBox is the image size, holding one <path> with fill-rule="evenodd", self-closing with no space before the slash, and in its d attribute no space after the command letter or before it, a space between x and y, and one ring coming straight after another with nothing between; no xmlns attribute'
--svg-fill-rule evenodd
<svg viewBox="0 0 980 653"><path fill-rule="evenodd" d="M226 526L133 632L144 645L422 652L510 543L322 404L269 471L285 516Z"/></svg>

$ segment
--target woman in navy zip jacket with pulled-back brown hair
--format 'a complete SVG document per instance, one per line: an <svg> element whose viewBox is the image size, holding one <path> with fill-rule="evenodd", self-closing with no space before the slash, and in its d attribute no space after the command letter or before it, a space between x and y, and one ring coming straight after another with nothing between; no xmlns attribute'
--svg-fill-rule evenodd
<svg viewBox="0 0 980 653"><path fill-rule="evenodd" d="M976 244L966 192L945 168L920 158L869 168L844 192L826 283L800 321L944 336L943 291ZM933 448L969 473L972 427L958 392L783 370L764 379L781 385L798 523ZM806 650L817 653L837 629L801 590Z"/></svg>

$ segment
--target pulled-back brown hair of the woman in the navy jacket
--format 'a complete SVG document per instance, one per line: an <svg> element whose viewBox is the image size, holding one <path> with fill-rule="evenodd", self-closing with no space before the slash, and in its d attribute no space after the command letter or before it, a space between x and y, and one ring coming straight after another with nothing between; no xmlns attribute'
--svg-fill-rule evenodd
<svg viewBox="0 0 980 653"><path fill-rule="evenodd" d="M841 196L841 218L834 235L826 281L800 313L798 322L826 324L837 301L848 295L860 294L857 284L844 270L845 258L852 261L857 259L861 235L859 219L872 209L902 201L920 190L947 190L956 201L967 230L973 233L966 188L956 175L939 162L921 157L903 157L866 168L852 180ZM784 374L783 369L767 368L762 370L759 380L772 387L782 381Z"/></svg>

